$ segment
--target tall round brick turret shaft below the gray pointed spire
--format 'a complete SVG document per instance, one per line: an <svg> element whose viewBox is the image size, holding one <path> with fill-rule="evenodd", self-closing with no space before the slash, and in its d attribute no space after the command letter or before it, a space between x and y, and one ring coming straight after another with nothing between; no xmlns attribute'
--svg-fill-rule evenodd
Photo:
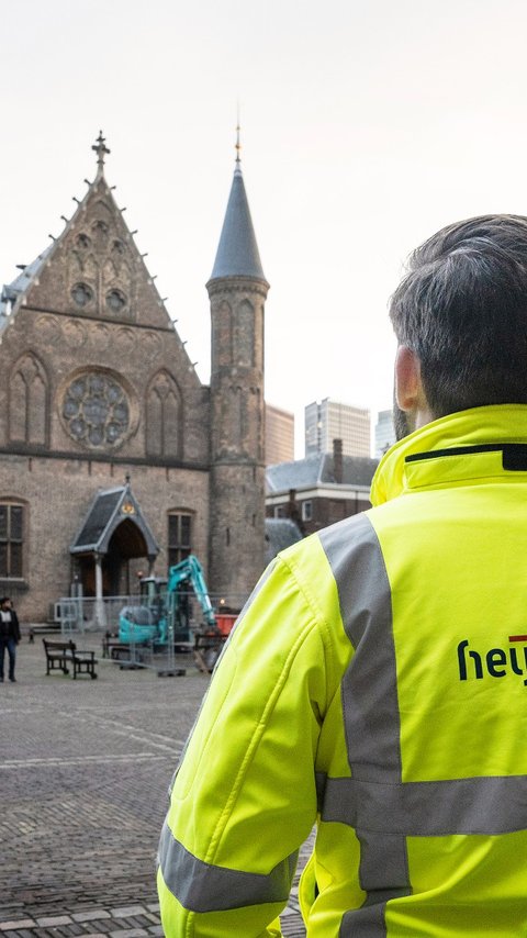
<svg viewBox="0 0 527 938"><path fill-rule="evenodd" d="M256 583L264 568L267 283L232 277L210 281L208 288L213 324L211 580L236 606L244 583Z"/></svg>

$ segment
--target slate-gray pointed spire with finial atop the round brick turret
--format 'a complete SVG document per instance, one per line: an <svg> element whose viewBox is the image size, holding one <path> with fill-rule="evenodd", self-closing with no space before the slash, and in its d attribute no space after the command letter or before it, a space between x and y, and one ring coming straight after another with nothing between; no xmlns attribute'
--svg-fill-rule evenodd
<svg viewBox="0 0 527 938"><path fill-rule="evenodd" d="M235 148L234 179L211 280L220 277L254 277L257 280L266 280L242 175L239 121Z"/></svg>

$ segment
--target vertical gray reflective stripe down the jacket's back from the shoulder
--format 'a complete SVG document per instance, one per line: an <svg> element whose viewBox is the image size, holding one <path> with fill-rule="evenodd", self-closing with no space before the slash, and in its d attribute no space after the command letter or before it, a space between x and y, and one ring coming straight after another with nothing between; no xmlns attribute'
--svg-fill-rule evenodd
<svg viewBox="0 0 527 938"><path fill-rule="evenodd" d="M367 785L382 782L386 786L400 786L392 602L379 540L365 514L326 528L319 538L337 584L346 634L355 648L341 686L351 775ZM366 655L362 654L365 645ZM354 823L357 814L359 824ZM326 819L325 796L322 816ZM365 938L381 938L386 934L385 903L412 892L404 834L375 831L367 825L361 827L360 809L349 819L343 816L339 819L356 829L360 844L359 882L367 894L361 908L343 916L340 935L343 938L359 934Z"/></svg>

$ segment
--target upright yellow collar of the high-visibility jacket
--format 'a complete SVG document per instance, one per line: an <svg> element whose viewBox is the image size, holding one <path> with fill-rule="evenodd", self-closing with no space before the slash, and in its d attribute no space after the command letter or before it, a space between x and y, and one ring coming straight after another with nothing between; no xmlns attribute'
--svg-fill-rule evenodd
<svg viewBox="0 0 527 938"><path fill-rule="evenodd" d="M445 459L444 450L459 447L478 447L493 443L527 444L527 404L498 404L473 407L433 421L399 440L382 457L371 483L371 503L383 504L411 489L427 484L440 484L474 476L474 464L462 454ZM418 454L435 450L438 458L407 460ZM495 474L501 453L481 453L478 474ZM439 467L439 468L438 468Z"/></svg>

